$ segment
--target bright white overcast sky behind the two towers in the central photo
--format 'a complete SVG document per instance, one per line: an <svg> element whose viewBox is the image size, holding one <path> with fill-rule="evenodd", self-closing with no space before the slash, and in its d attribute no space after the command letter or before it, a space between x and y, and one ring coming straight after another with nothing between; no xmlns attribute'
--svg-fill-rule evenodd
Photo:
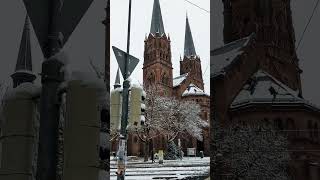
<svg viewBox="0 0 320 180"><path fill-rule="evenodd" d="M128 0L111 0L111 46L126 51ZM210 10L209 0L191 0L191 2ZM195 43L197 54L201 58L205 91L210 90L210 14L187 3L184 0L160 0L162 18L166 34L171 38L173 76L179 75L180 55L184 51L186 13ZM142 83L144 40L149 34L153 0L132 0L131 48L130 54L140 59L131 75L134 83ZM110 85L114 84L116 62L111 51ZM123 81L123 79L121 79Z"/></svg>

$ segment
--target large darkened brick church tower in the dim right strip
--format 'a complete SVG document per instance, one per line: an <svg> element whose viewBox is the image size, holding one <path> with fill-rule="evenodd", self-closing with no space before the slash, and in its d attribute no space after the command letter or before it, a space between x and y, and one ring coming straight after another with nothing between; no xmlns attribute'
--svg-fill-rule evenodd
<svg viewBox="0 0 320 180"><path fill-rule="evenodd" d="M224 42L255 33L260 68L301 94L302 71L295 51L291 0L222 1Z"/></svg>

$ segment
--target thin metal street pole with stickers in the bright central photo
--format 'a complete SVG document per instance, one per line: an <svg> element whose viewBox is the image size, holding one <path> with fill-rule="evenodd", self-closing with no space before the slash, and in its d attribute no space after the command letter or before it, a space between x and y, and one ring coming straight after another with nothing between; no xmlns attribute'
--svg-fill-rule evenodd
<svg viewBox="0 0 320 180"><path fill-rule="evenodd" d="M131 0L129 0L129 17L128 17L128 36L127 36L127 54L124 66L124 82L123 82L123 93L122 93L122 114L121 114L121 129L120 129L120 139L118 148L118 171L117 179L125 179L126 171L126 158L127 158L127 125L128 125L128 104L129 104L129 88L130 81L128 77L128 63L129 63L129 51L130 51L130 25L131 25Z"/></svg>

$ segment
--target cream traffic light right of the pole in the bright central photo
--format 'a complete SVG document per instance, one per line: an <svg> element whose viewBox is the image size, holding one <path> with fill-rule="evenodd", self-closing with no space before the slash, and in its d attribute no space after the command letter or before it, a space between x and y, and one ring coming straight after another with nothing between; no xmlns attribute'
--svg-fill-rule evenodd
<svg viewBox="0 0 320 180"><path fill-rule="evenodd" d="M146 93L140 86L132 86L130 91L129 126L140 128L144 125Z"/></svg>

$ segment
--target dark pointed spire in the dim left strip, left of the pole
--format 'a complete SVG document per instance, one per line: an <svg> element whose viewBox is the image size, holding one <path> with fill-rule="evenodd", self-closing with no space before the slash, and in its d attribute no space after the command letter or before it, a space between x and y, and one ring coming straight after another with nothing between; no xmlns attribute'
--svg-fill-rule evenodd
<svg viewBox="0 0 320 180"><path fill-rule="evenodd" d="M36 79L36 76L32 73L30 44L30 21L29 17L26 16L15 72L11 75L13 87L24 82L33 82Z"/></svg>

